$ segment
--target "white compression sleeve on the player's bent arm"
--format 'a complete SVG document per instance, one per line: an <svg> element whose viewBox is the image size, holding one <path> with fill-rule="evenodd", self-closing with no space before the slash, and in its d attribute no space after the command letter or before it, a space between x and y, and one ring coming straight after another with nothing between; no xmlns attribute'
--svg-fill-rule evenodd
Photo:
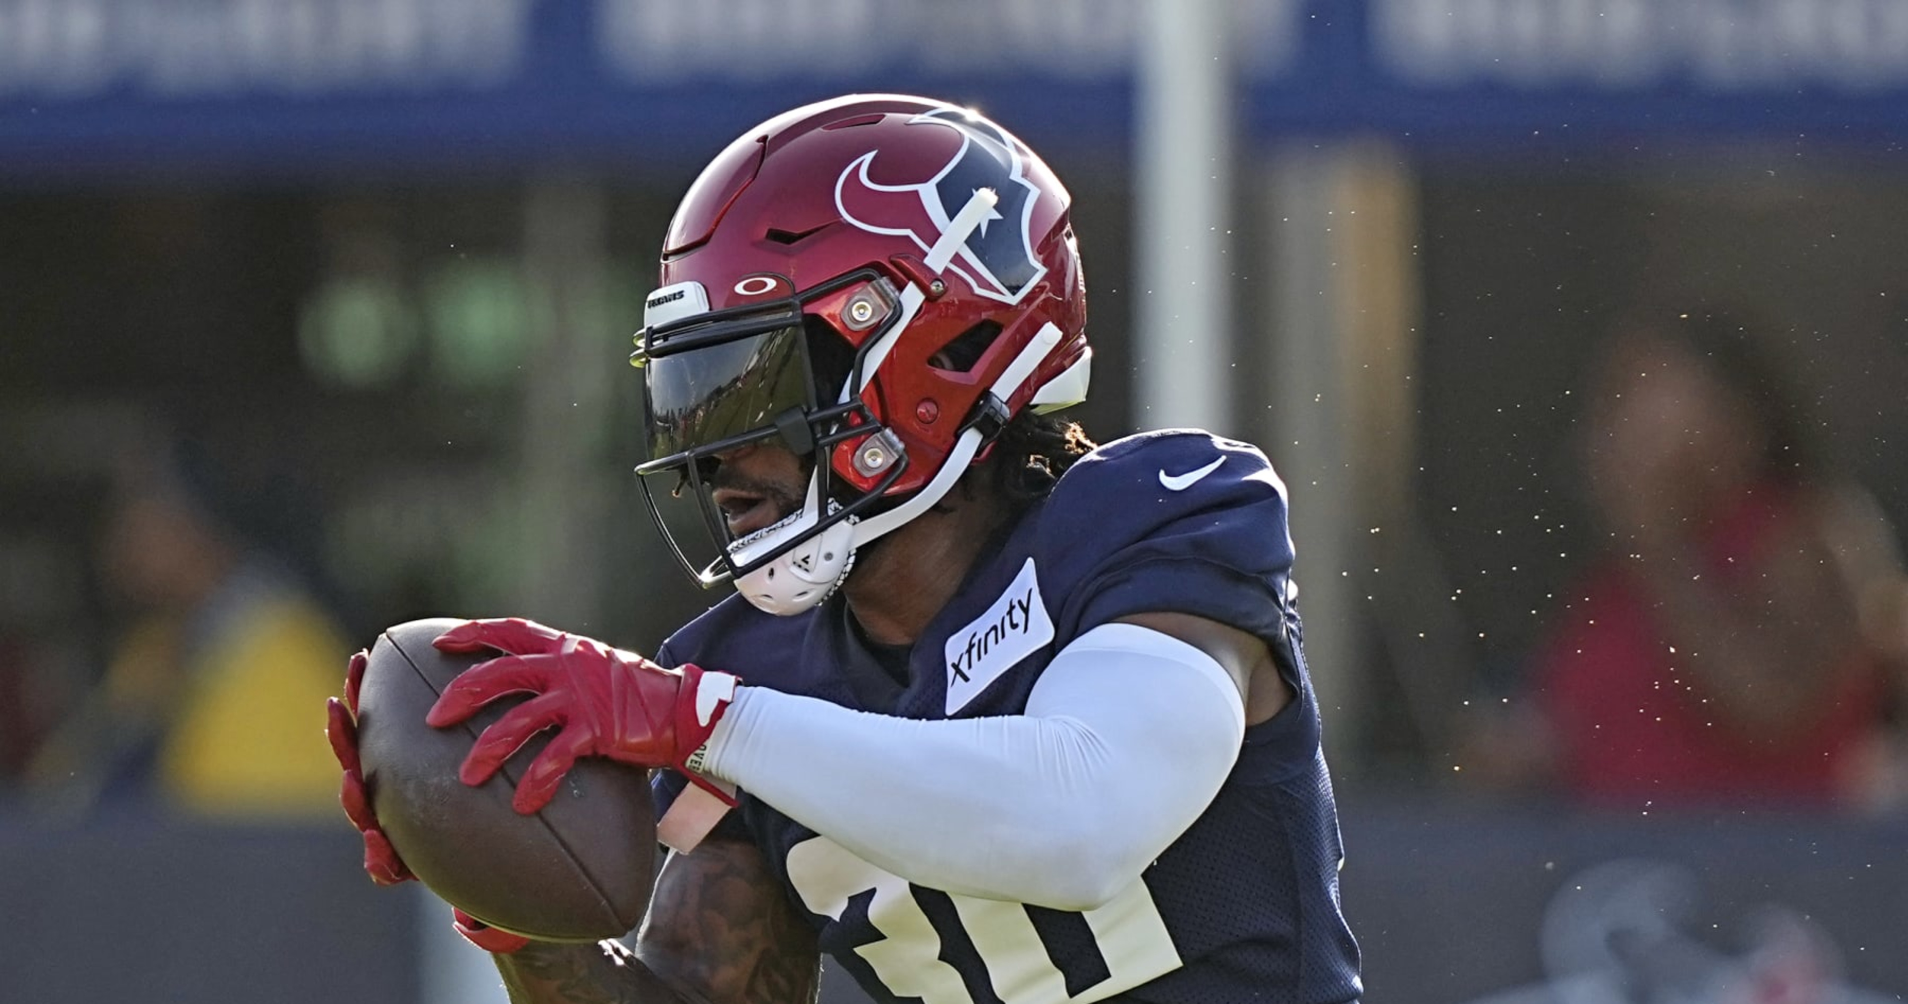
<svg viewBox="0 0 1908 1004"><path fill-rule="evenodd" d="M918 722L740 687L708 773L935 889L1097 907L1212 804L1246 710L1204 651L1101 624L1019 716Z"/></svg>

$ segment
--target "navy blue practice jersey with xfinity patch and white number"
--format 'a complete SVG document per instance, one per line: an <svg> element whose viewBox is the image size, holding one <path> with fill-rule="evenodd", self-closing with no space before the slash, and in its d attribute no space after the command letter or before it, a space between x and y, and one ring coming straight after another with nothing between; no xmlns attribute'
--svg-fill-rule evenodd
<svg viewBox="0 0 1908 1004"><path fill-rule="evenodd" d="M1002 531L904 674L861 641L841 597L771 617L731 596L658 659L935 720L1021 714L1057 651L1126 615L1191 613L1257 634L1297 699L1246 731L1206 813L1099 909L916 886L746 792L723 826L763 849L822 951L883 1004L1341 1004L1360 993L1358 949L1339 912L1338 811L1290 573L1284 485L1265 454L1158 431L1080 458ZM658 811L683 783L658 773Z"/></svg>

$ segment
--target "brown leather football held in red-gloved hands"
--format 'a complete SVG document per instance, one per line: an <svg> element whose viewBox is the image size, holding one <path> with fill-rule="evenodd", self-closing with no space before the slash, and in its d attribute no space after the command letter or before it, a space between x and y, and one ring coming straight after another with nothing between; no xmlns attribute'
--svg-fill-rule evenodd
<svg viewBox="0 0 1908 1004"><path fill-rule="evenodd" d="M448 655L431 639L452 618L387 628L370 649L359 691L359 754L372 811L397 853L437 895L506 931L544 941L622 937L649 907L656 817L645 771L578 760L536 815L509 800L548 735L517 750L481 786L458 781L471 743L506 697L446 729L424 714L460 672L498 653Z"/></svg>

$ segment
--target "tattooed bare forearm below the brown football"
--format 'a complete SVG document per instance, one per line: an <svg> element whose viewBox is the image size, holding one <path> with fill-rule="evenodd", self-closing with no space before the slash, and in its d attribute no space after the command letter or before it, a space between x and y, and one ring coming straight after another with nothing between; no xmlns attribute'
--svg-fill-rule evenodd
<svg viewBox="0 0 1908 1004"><path fill-rule="evenodd" d="M517 1004L803 1004L820 975L815 931L761 851L729 840L670 857L637 951L530 943L496 962Z"/></svg>

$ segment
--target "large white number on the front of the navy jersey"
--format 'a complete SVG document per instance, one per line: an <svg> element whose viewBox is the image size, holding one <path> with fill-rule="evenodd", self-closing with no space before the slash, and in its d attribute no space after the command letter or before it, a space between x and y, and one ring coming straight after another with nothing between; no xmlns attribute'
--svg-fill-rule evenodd
<svg viewBox="0 0 1908 1004"><path fill-rule="evenodd" d="M916 996L923 1004L973 1004L960 972L941 960L941 933L914 899L908 880L868 865L822 836L788 849L788 880L809 910L836 920L841 920L849 899L872 891L868 922L881 937L857 947L855 954L868 962L887 991L901 998ZM954 893L946 897L1004 1004L1089 1004L1179 968L1179 952L1152 905L1152 893L1137 878L1112 903L1080 914L1110 972L1080 996L1067 994L1067 979L1047 958L1023 905Z"/></svg>

